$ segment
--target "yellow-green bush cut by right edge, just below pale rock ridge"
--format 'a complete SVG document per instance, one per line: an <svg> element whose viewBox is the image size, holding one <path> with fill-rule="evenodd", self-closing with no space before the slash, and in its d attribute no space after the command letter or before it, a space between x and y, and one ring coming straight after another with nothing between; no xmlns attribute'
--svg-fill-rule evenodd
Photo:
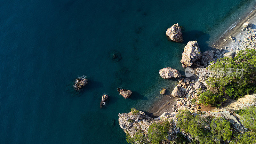
<svg viewBox="0 0 256 144"><path fill-rule="evenodd" d="M256 132L256 107L240 109L237 113L244 127Z"/></svg>

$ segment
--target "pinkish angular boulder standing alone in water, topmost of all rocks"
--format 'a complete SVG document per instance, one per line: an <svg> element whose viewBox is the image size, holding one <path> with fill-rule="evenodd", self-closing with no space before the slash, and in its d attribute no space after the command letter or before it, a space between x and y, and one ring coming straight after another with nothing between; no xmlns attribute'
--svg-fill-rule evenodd
<svg viewBox="0 0 256 144"><path fill-rule="evenodd" d="M166 36L168 36L174 42L181 43L183 41L181 28L178 23L174 24L171 28L166 30Z"/></svg>

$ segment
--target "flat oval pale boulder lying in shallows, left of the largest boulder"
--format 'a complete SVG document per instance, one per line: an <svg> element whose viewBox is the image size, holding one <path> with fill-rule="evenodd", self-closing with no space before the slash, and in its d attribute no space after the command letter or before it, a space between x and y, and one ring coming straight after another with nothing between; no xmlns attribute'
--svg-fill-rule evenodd
<svg viewBox="0 0 256 144"><path fill-rule="evenodd" d="M159 70L160 76L162 76L164 79L166 78L179 78L181 77L180 72L177 69L174 68L162 68Z"/></svg>

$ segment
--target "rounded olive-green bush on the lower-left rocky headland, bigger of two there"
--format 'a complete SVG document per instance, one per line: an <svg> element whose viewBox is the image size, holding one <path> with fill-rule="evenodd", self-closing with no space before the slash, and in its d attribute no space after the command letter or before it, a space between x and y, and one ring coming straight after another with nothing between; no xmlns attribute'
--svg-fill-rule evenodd
<svg viewBox="0 0 256 144"><path fill-rule="evenodd" d="M148 127L148 139L153 144L157 144L161 140L167 140L169 128L170 123L168 120L159 123L154 122Z"/></svg>

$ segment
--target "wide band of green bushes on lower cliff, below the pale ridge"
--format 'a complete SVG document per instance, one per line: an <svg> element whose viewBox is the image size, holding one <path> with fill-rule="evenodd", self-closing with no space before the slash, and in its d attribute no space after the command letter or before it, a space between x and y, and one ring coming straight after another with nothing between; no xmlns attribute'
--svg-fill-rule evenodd
<svg viewBox="0 0 256 144"><path fill-rule="evenodd" d="M215 143L214 140L220 143L232 138L230 123L223 117L202 118L199 115L192 115L188 110L180 110L177 118L176 126L189 133L202 144L213 144Z"/></svg>

